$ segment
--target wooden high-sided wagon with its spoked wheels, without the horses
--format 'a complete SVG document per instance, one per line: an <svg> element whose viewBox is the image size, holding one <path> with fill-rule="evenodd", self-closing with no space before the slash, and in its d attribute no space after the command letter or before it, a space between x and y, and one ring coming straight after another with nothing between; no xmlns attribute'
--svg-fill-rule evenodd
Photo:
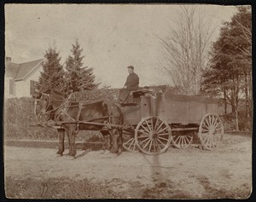
<svg viewBox="0 0 256 202"><path fill-rule="evenodd" d="M124 124L132 125L131 138L124 142L128 151L163 153L170 146L188 147L198 134L201 145L211 150L224 135L218 114L223 108L218 100L191 95L157 94L141 96L133 93L134 106L122 107Z"/></svg>

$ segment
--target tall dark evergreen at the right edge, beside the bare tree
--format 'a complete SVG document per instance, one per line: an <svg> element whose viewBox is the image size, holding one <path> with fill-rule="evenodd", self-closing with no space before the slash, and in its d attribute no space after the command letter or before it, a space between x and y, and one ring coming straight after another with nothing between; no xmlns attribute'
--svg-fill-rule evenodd
<svg viewBox="0 0 256 202"><path fill-rule="evenodd" d="M236 130L239 101L245 99L248 107L252 86L252 43L248 34L252 26L251 9L247 6L237 9L231 21L224 22L218 40L212 45L211 66L204 72L202 83L207 95L222 96L231 105L236 114Z"/></svg>

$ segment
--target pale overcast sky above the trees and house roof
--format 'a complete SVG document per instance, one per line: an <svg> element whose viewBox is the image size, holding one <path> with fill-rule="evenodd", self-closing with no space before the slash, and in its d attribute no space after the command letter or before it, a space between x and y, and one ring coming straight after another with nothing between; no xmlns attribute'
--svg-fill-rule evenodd
<svg viewBox="0 0 256 202"><path fill-rule="evenodd" d="M215 39L235 6L199 5L211 20ZM135 66L140 86L172 84L160 71L160 41L175 26L180 5L6 4L5 51L16 63L44 57L54 42L61 62L79 39L84 66L94 68L96 82L122 87L127 66Z"/></svg>

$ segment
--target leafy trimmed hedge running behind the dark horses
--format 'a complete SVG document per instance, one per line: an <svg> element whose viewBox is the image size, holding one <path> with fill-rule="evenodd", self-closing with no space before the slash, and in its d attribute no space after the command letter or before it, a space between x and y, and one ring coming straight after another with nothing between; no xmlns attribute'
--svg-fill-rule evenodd
<svg viewBox="0 0 256 202"><path fill-rule="evenodd" d="M113 100L117 89L94 89L91 91L75 92L72 101L99 101L103 99ZM38 122L33 112L33 99L28 97L10 98L4 101L4 137L9 139L42 139L56 140L58 132L55 129L30 126ZM80 131L78 140L88 141L102 140L97 131Z"/></svg>

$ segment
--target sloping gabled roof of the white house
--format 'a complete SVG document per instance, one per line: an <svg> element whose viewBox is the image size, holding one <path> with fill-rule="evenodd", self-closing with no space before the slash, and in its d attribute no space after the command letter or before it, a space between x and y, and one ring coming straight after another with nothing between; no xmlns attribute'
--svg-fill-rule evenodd
<svg viewBox="0 0 256 202"><path fill-rule="evenodd" d="M44 61L44 59L24 62L20 64L9 62L5 70L5 75L6 77L10 77L15 80L24 79L30 72L32 72L36 67L38 67L38 65L42 61Z"/></svg>

